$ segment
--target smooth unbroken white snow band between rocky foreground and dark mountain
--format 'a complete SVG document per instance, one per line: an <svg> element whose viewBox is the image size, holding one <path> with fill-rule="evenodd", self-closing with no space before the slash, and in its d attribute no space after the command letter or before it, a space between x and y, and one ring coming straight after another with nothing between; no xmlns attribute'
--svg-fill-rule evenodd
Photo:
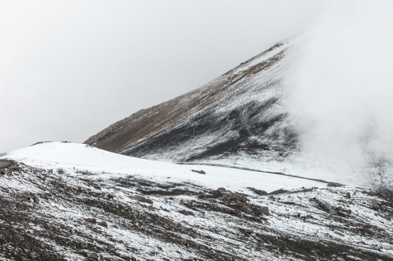
<svg viewBox="0 0 393 261"><path fill-rule="evenodd" d="M234 191L249 191L254 187L271 192L280 188L326 186L325 183L303 180L270 173L203 165L179 165L128 157L100 150L88 145L64 142L45 142L15 150L0 157L23 161L44 169L64 169L70 173L88 171L100 179L133 175L154 182L188 182L216 189L225 187ZM203 170L198 174L194 170Z"/></svg>

